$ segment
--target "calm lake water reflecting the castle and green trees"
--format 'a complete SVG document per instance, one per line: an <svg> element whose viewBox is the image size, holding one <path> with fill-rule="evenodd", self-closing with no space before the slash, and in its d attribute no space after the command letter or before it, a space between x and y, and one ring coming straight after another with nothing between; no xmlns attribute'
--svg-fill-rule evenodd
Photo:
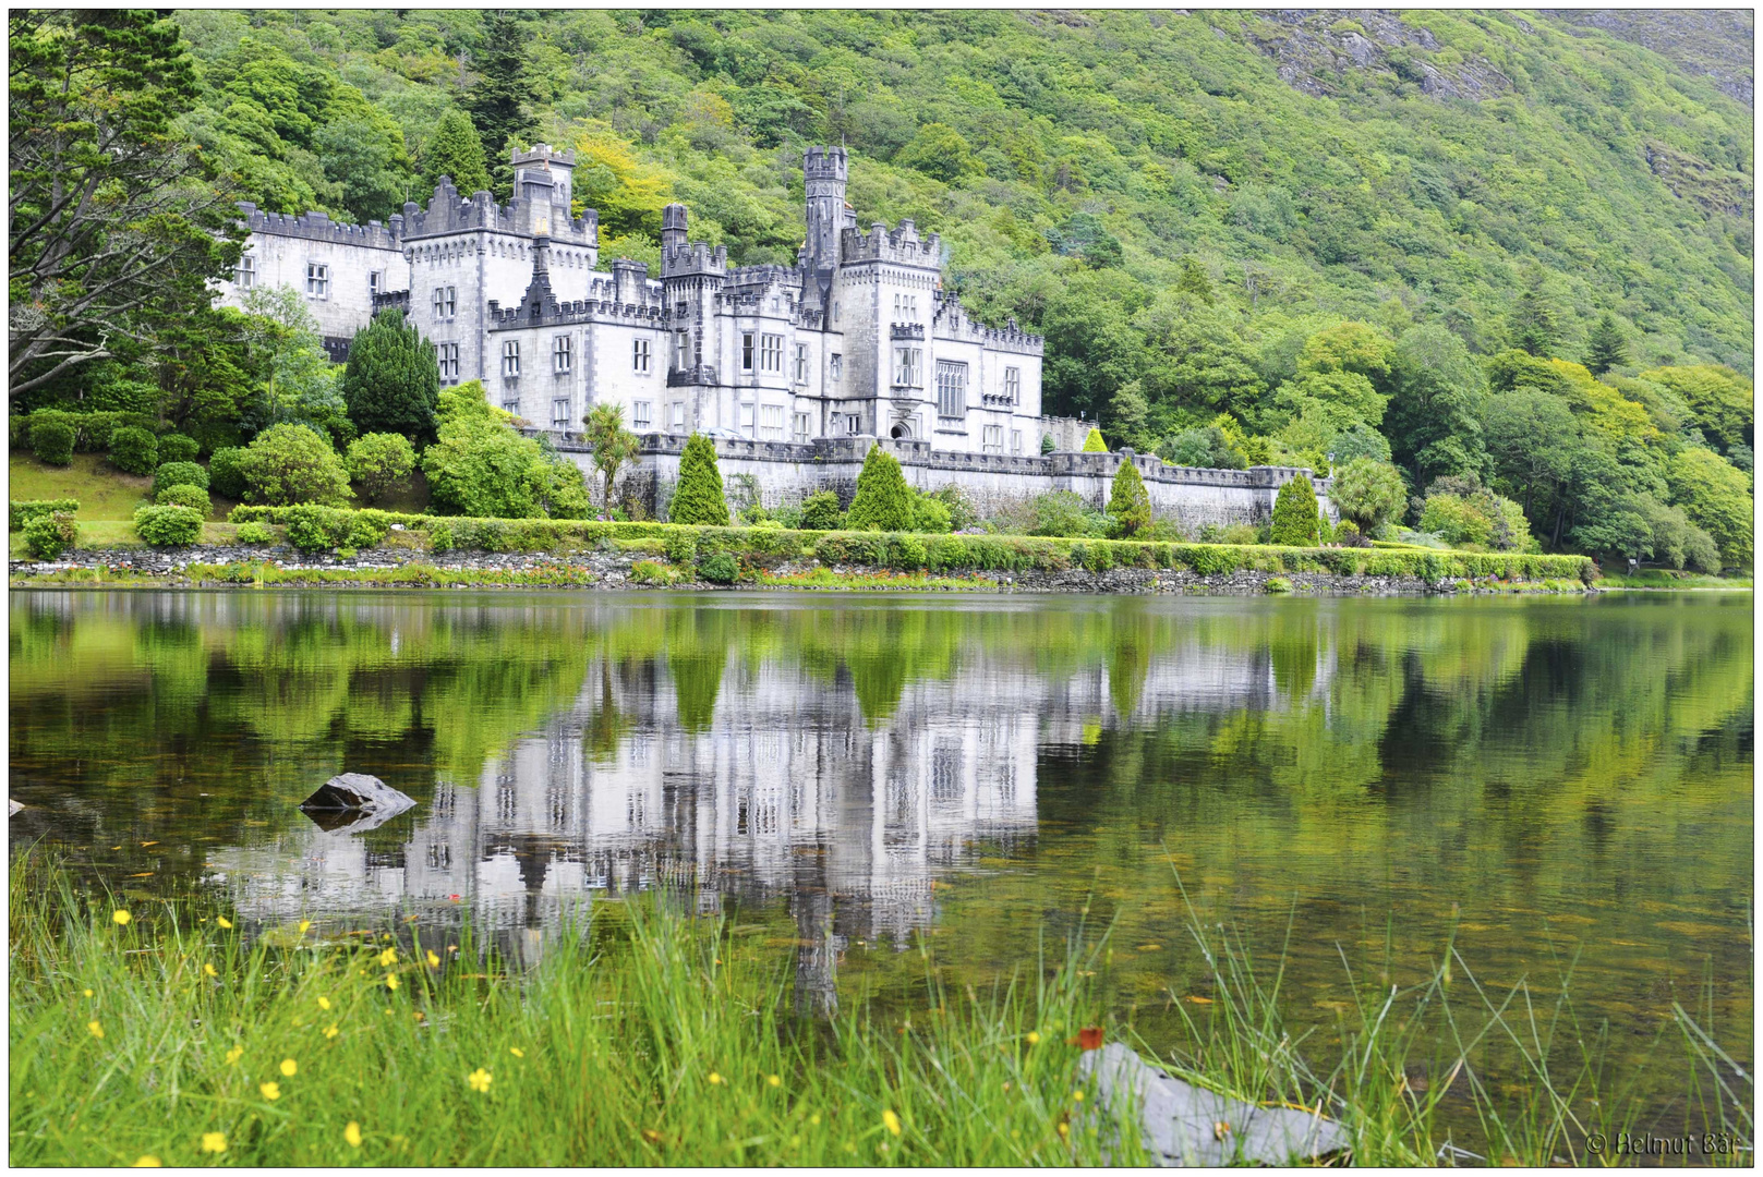
<svg viewBox="0 0 1763 1177"><path fill-rule="evenodd" d="M1458 948L1633 1066L1752 1029L1752 599L1530 601L14 592L12 846L254 929L462 913L545 951L584 895L668 888L908 1001L1031 966L1084 906L1153 1043L1204 994L1197 914L1345 964ZM337 772L416 798L365 833ZM1197 1006L1195 1006L1197 1008ZM1661 1099L1666 1096L1663 1094Z"/></svg>

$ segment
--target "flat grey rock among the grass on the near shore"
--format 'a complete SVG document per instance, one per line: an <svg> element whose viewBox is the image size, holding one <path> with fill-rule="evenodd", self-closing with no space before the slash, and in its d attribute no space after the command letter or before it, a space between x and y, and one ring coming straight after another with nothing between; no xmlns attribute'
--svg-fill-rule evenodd
<svg viewBox="0 0 1763 1177"><path fill-rule="evenodd" d="M1123 1043L1084 1052L1079 1070L1095 1073L1104 1114L1116 1099L1137 1099L1135 1119L1153 1165L1301 1165L1347 1147L1347 1133L1331 1119L1259 1108L1185 1084L1148 1066Z"/></svg>

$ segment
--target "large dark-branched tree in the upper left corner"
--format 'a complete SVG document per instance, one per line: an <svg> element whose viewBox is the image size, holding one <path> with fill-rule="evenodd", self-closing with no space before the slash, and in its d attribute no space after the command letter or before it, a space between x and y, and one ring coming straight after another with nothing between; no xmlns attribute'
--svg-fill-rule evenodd
<svg viewBox="0 0 1763 1177"><path fill-rule="evenodd" d="M7 18L14 407L86 365L157 345L238 263L231 194L176 130L197 97L178 26L150 11Z"/></svg>

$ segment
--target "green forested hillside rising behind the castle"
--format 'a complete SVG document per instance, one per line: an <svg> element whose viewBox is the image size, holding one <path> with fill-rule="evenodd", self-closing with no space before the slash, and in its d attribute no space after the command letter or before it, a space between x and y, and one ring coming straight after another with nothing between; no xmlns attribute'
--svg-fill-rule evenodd
<svg viewBox="0 0 1763 1177"><path fill-rule="evenodd" d="M1673 16L187 11L175 127L236 196L346 218L547 139L603 259L651 263L675 199L793 261L800 148L843 141L859 222L941 233L977 315L1047 337L1049 412L1395 462L1396 518L1444 477L1493 543L1511 499L1680 562L1749 514L1754 190L1749 69Z"/></svg>

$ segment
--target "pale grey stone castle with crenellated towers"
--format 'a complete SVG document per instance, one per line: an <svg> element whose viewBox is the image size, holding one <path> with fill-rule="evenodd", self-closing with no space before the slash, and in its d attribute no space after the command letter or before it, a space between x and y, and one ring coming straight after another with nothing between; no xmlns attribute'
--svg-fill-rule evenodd
<svg viewBox="0 0 1763 1177"><path fill-rule="evenodd" d="M599 263L599 217L569 211L573 152L515 152L515 196L464 196L335 224L247 204L250 238L222 301L301 291L331 354L384 308L434 342L443 386L578 432L599 403L636 433L788 440L889 437L936 451L1038 455L1042 340L975 322L943 289L938 236L911 220L866 233L844 201L844 148L807 148L806 240L790 266L730 266L668 204L661 275Z"/></svg>

